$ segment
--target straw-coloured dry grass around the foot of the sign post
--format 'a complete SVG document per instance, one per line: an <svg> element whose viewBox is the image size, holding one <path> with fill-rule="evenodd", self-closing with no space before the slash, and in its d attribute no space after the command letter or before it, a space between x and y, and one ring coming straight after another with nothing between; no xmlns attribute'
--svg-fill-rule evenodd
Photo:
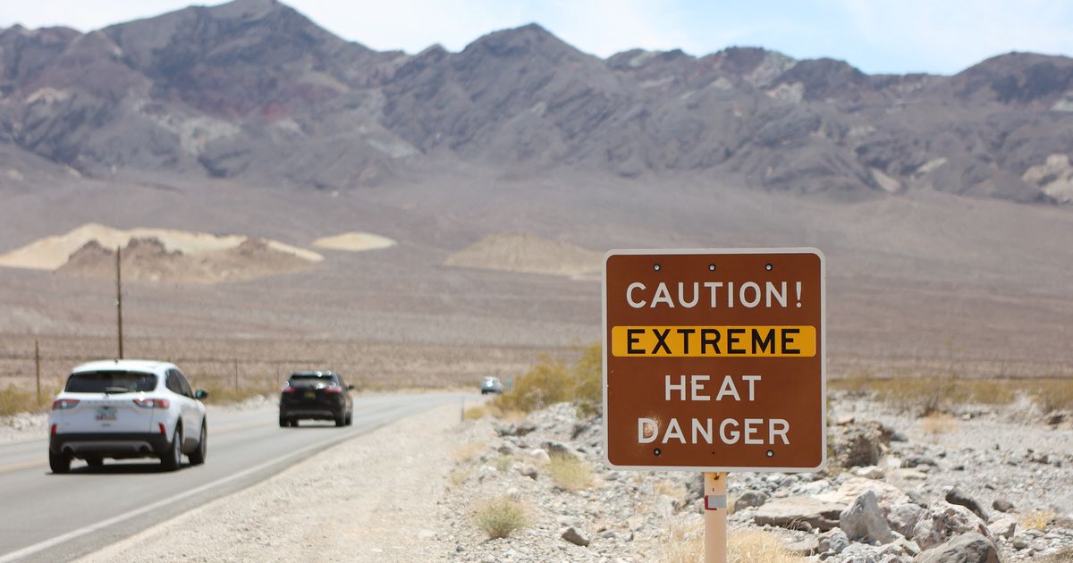
<svg viewBox="0 0 1073 563"><path fill-rule="evenodd" d="M704 521L678 518L667 527L662 563L699 563L704 558ZM726 558L734 563L799 563L806 561L784 547L778 536L759 530L732 530Z"/></svg>

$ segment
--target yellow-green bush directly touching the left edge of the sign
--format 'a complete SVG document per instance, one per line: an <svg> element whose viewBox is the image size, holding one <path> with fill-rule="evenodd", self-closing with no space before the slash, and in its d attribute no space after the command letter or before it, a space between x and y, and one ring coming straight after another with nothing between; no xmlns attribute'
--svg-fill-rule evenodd
<svg viewBox="0 0 1073 563"><path fill-rule="evenodd" d="M578 414L590 416L603 405L603 349L586 346L570 367L544 356L527 373L517 377L514 388L496 400L501 411L529 413L558 402L573 402Z"/></svg>

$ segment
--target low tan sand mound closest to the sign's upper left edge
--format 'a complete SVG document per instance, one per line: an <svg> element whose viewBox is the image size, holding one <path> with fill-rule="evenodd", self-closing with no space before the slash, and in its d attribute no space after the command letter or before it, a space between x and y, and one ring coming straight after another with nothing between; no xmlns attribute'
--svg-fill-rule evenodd
<svg viewBox="0 0 1073 563"><path fill-rule="evenodd" d="M452 254L444 265L459 268L518 271L596 279L602 254L582 247L533 235L488 235Z"/></svg>

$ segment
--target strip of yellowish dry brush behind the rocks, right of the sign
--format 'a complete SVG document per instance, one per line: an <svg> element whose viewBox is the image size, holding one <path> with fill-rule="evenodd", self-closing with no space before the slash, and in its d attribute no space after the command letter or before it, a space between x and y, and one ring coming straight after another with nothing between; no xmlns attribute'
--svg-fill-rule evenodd
<svg viewBox="0 0 1073 563"><path fill-rule="evenodd" d="M832 389L867 392L876 399L906 410L930 414L949 410L951 405L1009 404L1025 396L1045 411L1073 409L1073 379L960 379L937 377L873 377L857 372L828 382Z"/></svg>

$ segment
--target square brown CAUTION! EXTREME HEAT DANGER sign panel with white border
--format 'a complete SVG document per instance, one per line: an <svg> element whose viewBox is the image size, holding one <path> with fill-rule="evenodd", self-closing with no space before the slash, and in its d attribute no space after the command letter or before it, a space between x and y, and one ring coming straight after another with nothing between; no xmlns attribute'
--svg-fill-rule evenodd
<svg viewBox="0 0 1073 563"><path fill-rule="evenodd" d="M608 463L706 472L823 465L819 250L612 251L603 314Z"/></svg>

